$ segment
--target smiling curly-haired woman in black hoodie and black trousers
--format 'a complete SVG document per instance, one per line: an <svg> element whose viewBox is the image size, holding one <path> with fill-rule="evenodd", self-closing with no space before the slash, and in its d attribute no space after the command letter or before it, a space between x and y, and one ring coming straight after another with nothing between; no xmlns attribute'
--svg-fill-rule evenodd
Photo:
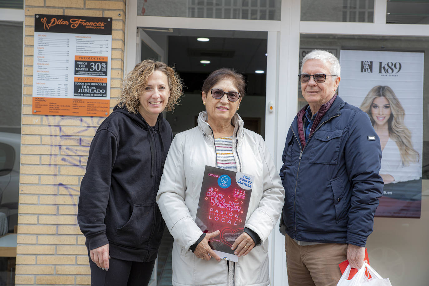
<svg viewBox="0 0 429 286"><path fill-rule="evenodd" d="M149 283L164 228L155 196L173 139L162 111L181 96L174 69L144 60L127 74L118 105L95 133L78 207L91 285Z"/></svg>

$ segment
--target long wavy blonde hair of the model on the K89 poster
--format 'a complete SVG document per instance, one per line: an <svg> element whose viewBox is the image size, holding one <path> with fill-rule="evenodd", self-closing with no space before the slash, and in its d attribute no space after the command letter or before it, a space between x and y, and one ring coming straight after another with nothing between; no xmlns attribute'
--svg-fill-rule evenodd
<svg viewBox="0 0 429 286"><path fill-rule="evenodd" d="M392 111L387 120L389 136L392 137L393 141L395 141L398 146L402 163L404 166L408 166L410 163L418 162L419 153L414 149L413 142L411 142L411 132L404 124L404 108L390 87L386 85L377 85L373 87L366 95L365 99L363 99L360 109L369 115L372 126L374 126L375 120L372 118L371 105L377 97L384 97L389 102L390 110Z"/></svg>

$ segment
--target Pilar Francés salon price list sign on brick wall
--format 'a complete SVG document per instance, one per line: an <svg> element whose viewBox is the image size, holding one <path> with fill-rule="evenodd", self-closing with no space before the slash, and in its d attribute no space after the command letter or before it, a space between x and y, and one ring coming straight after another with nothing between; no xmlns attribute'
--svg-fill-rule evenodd
<svg viewBox="0 0 429 286"><path fill-rule="evenodd" d="M34 18L32 113L106 117L112 18Z"/></svg>

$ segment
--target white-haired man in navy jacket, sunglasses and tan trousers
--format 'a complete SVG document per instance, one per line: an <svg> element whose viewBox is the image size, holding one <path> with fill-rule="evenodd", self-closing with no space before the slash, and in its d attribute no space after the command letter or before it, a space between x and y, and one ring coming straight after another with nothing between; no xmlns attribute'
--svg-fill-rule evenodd
<svg viewBox="0 0 429 286"><path fill-rule="evenodd" d="M289 286L335 286L340 262L363 265L383 191L380 140L368 115L337 96L334 55L307 54L299 81L308 105L290 126L280 170L287 276Z"/></svg>

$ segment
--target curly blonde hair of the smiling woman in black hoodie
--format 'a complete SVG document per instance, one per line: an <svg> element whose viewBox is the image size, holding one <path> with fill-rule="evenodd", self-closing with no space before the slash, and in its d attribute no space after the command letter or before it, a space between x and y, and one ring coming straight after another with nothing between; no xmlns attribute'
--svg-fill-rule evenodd
<svg viewBox="0 0 429 286"><path fill-rule="evenodd" d="M157 70L165 73L168 78L170 97L165 110L173 111L183 95L183 83L173 68L163 62L154 60L143 60L141 63L136 64L132 71L127 73L127 76L122 81L122 91L118 97L118 106L126 107L133 114L139 112L140 96L145 91L149 76Z"/></svg>

